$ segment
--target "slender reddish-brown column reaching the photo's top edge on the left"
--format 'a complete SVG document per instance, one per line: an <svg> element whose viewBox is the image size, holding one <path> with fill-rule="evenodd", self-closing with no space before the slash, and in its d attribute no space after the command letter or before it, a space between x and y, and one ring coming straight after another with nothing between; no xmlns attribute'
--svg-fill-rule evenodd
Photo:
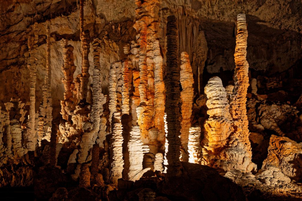
<svg viewBox="0 0 302 201"><path fill-rule="evenodd" d="M84 31L84 0L80 0L80 39L81 39L81 52L82 52L82 75L80 75L80 91L78 92L78 99L82 100L87 96L87 84L89 78L89 31Z"/></svg>

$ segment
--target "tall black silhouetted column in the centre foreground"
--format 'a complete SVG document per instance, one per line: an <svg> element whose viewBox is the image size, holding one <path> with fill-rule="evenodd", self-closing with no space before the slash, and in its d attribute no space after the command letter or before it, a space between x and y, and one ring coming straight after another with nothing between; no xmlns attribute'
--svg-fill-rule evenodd
<svg viewBox="0 0 302 201"><path fill-rule="evenodd" d="M178 44L177 24L175 16L168 16L167 22L167 68L166 68L166 113L168 126L168 169L167 176L178 176L182 174L180 156L180 114L178 104L180 102L179 90L179 67L178 67Z"/></svg>

